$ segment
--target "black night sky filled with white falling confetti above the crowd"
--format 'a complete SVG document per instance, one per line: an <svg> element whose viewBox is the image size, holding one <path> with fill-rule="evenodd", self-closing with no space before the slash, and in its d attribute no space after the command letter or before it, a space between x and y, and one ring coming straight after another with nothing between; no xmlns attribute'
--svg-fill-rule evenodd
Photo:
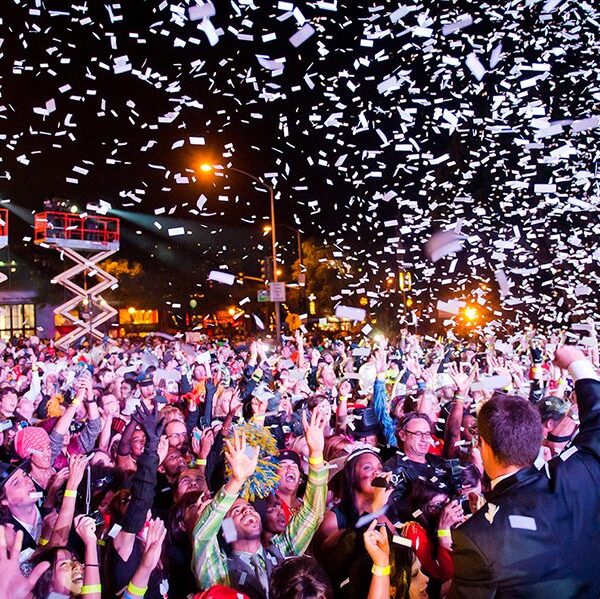
<svg viewBox="0 0 600 599"><path fill-rule="evenodd" d="M341 304L376 309L404 265L424 320L449 299L516 323L598 312L591 2L4 0L0 17L0 197L24 260L43 250L22 217L61 197L110 204L119 255L172 299L212 269L257 273L268 196L201 175L209 160L271 183L277 219L346 264ZM464 247L433 264L446 229Z"/></svg>

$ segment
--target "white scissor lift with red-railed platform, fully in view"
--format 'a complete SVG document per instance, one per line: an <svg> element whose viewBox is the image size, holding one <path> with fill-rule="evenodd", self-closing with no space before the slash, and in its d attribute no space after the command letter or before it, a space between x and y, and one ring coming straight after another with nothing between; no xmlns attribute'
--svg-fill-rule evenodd
<svg viewBox="0 0 600 599"><path fill-rule="evenodd" d="M118 218L69 212L40 212L35 215L35 243L57 250L75 263L52 280L52 283L58 283L73 293L71 299L54 309L55 314L75 325L72 331L56 341L59 347L66 349L85 335L105 338L98 327L115 316L117 310L109 306L101 294L117 283L117 279L100 268L99 263L119 250L119 237ZM74 280L80 275L86 280L87 277L95 277L97 282L86 289ZM85 307L88 320L71 313L80 306Z"/></svg>

